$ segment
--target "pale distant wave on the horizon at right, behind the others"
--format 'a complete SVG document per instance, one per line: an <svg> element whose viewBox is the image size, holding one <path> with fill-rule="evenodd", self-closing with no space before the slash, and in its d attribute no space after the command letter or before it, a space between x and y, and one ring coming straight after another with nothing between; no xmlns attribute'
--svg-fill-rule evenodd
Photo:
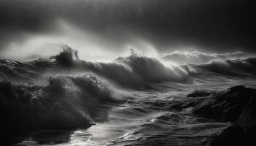
<svg viewBox="0 0 256 146"><path fill-rule="evenodd" d="M225 53L225 54L207 54L207 53L182 53L175 52L162 56L165 61L172 61L176 64L207 64L210 61L219 61L236 58L249 58L256 54L248 53Z"/></svg>

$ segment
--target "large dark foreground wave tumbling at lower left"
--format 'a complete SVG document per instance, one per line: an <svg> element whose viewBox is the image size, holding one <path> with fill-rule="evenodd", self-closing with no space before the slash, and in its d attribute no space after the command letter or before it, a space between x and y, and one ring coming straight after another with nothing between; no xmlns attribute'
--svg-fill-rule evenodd
<svg viewBox="0 0 256 146"><path fill-rule="evenodd" d="M105 105L121 101L91 74L56 77L46 86L0 82L0 97L1 133L10 142L39 129L91 126L108 117Z"/></svg>

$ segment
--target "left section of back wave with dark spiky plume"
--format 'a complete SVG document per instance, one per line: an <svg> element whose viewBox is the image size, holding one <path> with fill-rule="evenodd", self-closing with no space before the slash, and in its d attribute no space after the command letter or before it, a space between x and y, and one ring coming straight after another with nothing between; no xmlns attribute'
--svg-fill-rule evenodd
<svg viewBox="0 0 256 146"><path fill-rule="evenodd" d="M0 60L0 80L29 82L39 80L47 73L57 74L71 72L75 69L78 54L68 46L64 46L59 55L41 58L34 61Z"/></svg>

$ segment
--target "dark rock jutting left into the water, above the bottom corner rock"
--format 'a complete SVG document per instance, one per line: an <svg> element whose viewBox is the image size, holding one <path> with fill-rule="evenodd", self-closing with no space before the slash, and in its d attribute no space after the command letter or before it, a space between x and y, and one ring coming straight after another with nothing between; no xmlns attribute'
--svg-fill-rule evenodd
<svg viewBox="0 0 256 146"><path fill-rule="evenodd" d="M219 92L215 96L210 96L202 103L197 104L192 112L203 118L236 122L246 104L255 96L255 89L236 86L225 92Z"/></svg>

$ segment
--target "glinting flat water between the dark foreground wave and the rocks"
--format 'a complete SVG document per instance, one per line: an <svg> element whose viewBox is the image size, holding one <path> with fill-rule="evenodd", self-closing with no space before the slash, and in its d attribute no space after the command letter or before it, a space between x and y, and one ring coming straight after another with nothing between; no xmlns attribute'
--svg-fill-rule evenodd
<svg viewBox="0 0 256 146"><path fill-rule="evenodd" d="M197 118L191 108L171 111L168 105L184 101L195 88L223 90L238 84L254 87L253 83L238 80L214 86L211 82L193 86L159 83L154 90L128 90L133 99L113 106L107 121L75 131L39 132L19 145L208 145L230 123Z"/></svg>

